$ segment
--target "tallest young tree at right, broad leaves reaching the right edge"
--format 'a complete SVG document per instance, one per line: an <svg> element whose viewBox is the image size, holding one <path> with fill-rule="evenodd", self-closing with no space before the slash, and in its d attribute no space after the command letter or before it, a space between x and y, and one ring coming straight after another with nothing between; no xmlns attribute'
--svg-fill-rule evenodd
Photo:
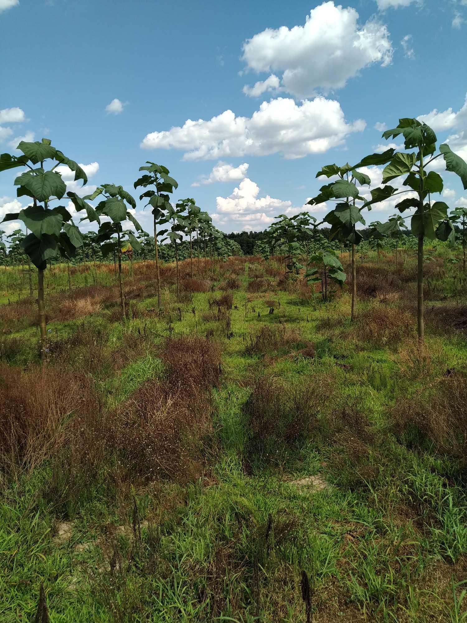
<svg viewBox="0 0 467 623"><path fill-rule="evenodd" d="M431 201L433 193L441 193L443 179L435 171L427 173L428 164L443 156L446 169L456 173L464 189L467 189L467 164L460 156L451 151L446 143L440 145L440 153L436 154L436 135L426 123L417 119L399 119L399 125L392 130L386 130L383 138L396 138L403 135L407 151L395 153L383 171L383 183L405 176L402 185L407 190L398 191L392 186L385 186L385 193L390 195L408 192L409 189L417 193L417 197L403 199L395 207L399 212L415 208L412 216L412 233L418 238L417 246L417 328L420 344L425 339L425 323L423 321L423 241L425 238L434 240L454 239L453 226L448 219L448 206L443 201ZM415 150L415 151L412 151ZM384 198L384 197L382 197ZM428 201L425 201L428 199Z"/></svg>

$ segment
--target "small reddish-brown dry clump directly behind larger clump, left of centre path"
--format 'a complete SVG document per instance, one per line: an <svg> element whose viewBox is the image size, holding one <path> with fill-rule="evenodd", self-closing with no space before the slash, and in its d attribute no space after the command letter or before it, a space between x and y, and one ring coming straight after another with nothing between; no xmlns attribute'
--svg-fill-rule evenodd
<svg viewBox="0 0 467 623"><path fill-rule="evenodd" d="M169 338L162 352L170 383L210 389L219 386L220 346L207 338Z"/></svg>

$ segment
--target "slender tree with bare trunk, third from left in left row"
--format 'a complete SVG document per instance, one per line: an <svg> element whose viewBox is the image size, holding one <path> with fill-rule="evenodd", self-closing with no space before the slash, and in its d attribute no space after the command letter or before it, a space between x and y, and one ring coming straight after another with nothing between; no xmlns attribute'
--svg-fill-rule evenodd
<svg viewBox="0 0 467 623"><path fill-rule="evenodd" d="M158 253L158 235L164 235L167 232L158 232L158 226L164 224L166 221L166 212L169 210L170 197L174 188L178 188L178 183L174 178L169 176L169 169L162 164L156 164L146 160L144 166L139 167L139 171L147 171L141 178L137 179L133 184L134 188L141 186L148 188L153 186L143 194L139 195L139 199L149 199L146 206L153 208L154 217L154 255L156 258L156 281L158 288L158 307L161 307L161 277L159 274L159 253Z"/></svg>

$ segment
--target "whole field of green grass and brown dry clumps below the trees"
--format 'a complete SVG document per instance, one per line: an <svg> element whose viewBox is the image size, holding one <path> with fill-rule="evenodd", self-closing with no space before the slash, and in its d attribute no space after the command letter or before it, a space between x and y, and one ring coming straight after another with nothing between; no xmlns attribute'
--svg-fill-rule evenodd
<svg viewBox="0 0 467 623"><path fill-rule="evenodd" d="M178 301L163 266L161 310L125 265L125 322L113 265L52 267L44 368L0 270L0 620L43 584L53 623L467 621L467 285L432 257L422 354L408 254L354 323L257 258Z"/></svg>

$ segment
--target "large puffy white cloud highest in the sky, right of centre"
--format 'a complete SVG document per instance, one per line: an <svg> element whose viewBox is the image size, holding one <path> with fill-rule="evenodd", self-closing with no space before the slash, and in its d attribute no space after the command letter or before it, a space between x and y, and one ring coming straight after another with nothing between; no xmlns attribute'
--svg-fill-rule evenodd
<svg viewBox="0 0 467 623"><path fill-rule="evenodd" d="M303 26L267 28L245 41L242 60L257 73L280 72L281 88L300 98L344 87L364 67L392 59L387 27L374 20L361 25L358 17L351 7L323 2ZM257 85L253 90L264 83Z"/></svg>

